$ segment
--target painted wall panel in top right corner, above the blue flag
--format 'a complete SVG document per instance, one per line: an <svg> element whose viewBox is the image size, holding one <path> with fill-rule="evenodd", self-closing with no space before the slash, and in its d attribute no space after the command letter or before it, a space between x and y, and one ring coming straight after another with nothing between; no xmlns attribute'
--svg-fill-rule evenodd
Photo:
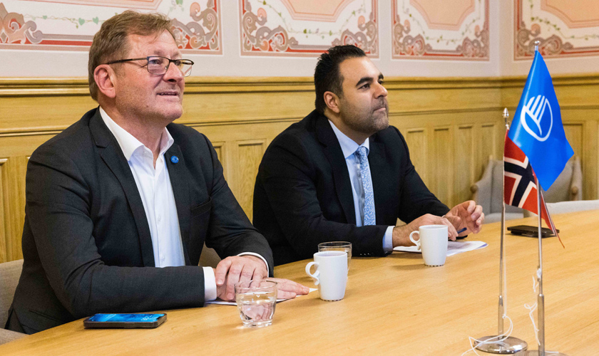
<svg viewBox="0 0 599 356"><path fill-rule="evenodd" d="M599 54L599 1L514 0L514 58Z"/></svg>

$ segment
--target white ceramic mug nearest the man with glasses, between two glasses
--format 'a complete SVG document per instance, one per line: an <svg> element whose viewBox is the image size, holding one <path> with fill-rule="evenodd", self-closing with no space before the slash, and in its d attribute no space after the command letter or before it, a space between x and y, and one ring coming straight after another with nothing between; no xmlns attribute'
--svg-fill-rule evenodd
<svg viewBox="0 0 599 356"><path fill-rule="evenodd" d="M316 266L314 274L310 268ZM314 253L314 262L306 266L308 276L314 278L320 299L341 300L347 285L347 253L345 251L322 251Z"/></svg>

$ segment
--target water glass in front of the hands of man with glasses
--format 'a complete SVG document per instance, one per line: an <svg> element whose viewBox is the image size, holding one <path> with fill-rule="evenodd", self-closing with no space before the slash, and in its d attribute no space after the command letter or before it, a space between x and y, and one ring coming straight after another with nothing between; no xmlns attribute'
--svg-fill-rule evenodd
<svg viewBox="0 0 599 356"><path fill-rule="evenodd" d="M237 283L235 301L244 326L262 328L271 325L277 305L277 282L262 280Z"/></svg>

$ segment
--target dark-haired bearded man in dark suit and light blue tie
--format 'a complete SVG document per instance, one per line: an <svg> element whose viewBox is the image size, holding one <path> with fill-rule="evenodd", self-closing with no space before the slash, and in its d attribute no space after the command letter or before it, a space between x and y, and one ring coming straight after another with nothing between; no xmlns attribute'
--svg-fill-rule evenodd
<svg viewBox="0 0 599 356"><path fill-rule="evenodd" d="M272 141L256 178L254 225L275 265L309 258L325 241L384 256L410 245L421 225L447 225L450 239L481 229L481 206L450 210L416 173L404 137L389 127L383 75L361 49L329 48L314 85L316 110ZM397 218L409 224L395 226Z"/></svg>

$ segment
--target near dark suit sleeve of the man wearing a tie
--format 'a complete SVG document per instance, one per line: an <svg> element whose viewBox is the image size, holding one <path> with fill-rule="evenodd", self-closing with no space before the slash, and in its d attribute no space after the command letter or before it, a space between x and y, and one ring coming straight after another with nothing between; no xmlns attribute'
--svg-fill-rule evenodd
<svg viewBox="0 0 599 356"><path fill-rule="evenodd" d="M357 227L324 216L321 204L328 202L319 197L316 182L323 178L320 173L302 141L293 135L277 137L260 165L259 179L270 209L295 252L300 258L310 258L321 242L349 241L354 256L384 256L383 236L388 226ZM324 174L329 175L324 179L332 179L330 172Z"/></svg>

